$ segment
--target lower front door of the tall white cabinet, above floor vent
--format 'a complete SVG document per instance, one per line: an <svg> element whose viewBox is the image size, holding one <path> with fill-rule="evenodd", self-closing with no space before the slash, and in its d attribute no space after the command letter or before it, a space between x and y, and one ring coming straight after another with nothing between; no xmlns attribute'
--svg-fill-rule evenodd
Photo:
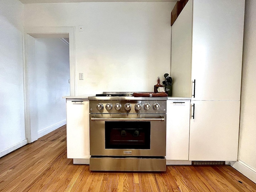
<svg viewBox="0 0 256 192"><path fill-rule="evenodd" d="M189 160L236 161L240 101L191 101L191 108Z"/></svg>

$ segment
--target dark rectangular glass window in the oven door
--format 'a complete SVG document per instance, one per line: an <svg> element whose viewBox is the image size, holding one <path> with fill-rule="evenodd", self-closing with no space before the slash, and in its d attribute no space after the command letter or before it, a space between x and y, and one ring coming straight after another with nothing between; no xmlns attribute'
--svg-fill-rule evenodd
<svg viewBox="0 0 256 192"><path fill-rule="evenodd" d="M150 149L150 122L106 121L106 149Z"/></svg>

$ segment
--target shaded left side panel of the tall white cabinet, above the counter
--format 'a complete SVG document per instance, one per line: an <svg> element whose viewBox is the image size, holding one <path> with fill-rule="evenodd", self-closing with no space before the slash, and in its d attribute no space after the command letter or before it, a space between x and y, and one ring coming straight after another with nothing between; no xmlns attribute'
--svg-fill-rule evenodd
<svg viewBox="0 0 256 192"><path fill-rule="evenodd" d="M172 25L172 96L191 97L192 0Z"/></svg>

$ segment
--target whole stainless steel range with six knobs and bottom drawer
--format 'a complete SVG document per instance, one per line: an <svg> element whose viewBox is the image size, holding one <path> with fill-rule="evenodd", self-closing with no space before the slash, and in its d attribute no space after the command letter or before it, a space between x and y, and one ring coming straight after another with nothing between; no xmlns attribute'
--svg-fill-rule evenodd
<svg viewBox="0 0 256 192"><path fill-rule="evenodd" d="M166 171L167 97L104 94L89 97L90 170Z"/></svg>

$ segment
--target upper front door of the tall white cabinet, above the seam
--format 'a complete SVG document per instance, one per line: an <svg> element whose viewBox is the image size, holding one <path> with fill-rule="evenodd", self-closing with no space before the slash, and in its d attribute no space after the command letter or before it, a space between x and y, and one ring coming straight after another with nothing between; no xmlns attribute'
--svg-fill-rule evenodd
<svg viewBox="0 0 256 192"><path fill-rule="evenodd" d="M194 0L192 100L240 100L244 5L245 0Z"/></svg>

